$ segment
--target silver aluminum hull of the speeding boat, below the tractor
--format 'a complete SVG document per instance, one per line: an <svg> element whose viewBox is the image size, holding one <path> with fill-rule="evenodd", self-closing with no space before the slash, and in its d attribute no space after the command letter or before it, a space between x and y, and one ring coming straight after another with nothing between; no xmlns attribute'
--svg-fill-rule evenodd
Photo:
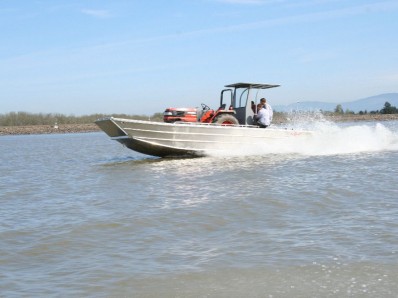
<svg viewBox="0 0 398 298"><path fill-rule="evenodd" d="M223 126L205 123L164 123L123 118L95 122L113 140L153 156L204 156L248 144L308 137L309 131L258 128L249 125Z"/></svg>

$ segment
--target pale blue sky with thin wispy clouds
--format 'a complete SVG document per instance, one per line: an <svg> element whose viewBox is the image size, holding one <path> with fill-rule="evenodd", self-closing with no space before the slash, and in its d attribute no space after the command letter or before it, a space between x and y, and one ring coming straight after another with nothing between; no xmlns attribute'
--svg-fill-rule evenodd
<svg viewBox="0 0 398 298"><path fill-rule="evenodd" d="M0 0L0 114L152 115L216 107L224 85L271 104L398 92L398 1Z"/></svg>

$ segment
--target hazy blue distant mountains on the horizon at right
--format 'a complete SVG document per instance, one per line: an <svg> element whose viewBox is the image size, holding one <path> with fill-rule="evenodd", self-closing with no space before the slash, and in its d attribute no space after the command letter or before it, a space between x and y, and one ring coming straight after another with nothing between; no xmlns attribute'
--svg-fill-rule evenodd
<svg viewBox="0 0 398 298"><path fill-rule="evenodd" d="M358 99L350 102L342 102L342 103L328 103L321 101L303 101L298 103L292 103L289 105L275 105L272 108L278 112L290 112L290 111L331 111L333 112L336 109L336 106L340 104L343 107L343 110L347 109L358 113L360 111L377 111L381 110L384 107L386 102L389 102L392 106L398 107L398 93L385 93L380 95L375 95L371 97L366 97L362 99Z"/></svg>

